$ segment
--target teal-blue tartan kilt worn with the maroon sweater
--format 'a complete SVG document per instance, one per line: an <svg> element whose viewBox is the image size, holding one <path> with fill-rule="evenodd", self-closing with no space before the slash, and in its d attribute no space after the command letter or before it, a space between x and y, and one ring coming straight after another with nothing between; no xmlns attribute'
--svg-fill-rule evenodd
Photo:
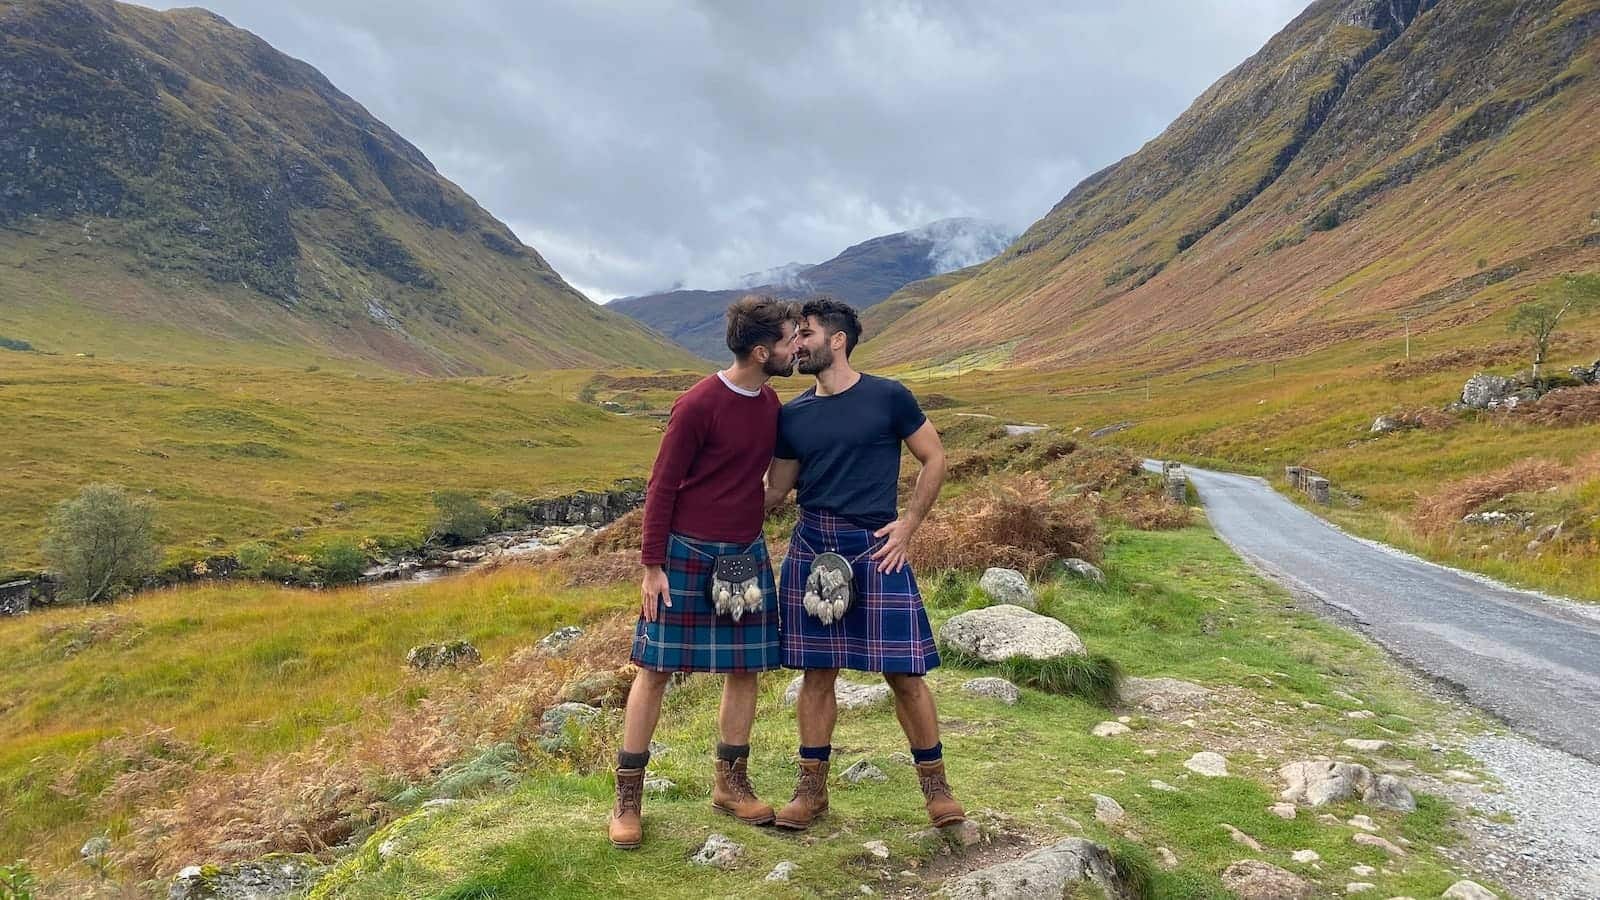
<svg viewBox="0 0 1600 900"><path fill-rule="evenodd" d="M733 621L728 615L717 615L706 586L715 559L738 552L755 554L766 602ZM664 569L672 605L662 605L656 621L638 617L634 626L635 665L658 673L760 673L778 668L778 588L763 538L741 544L669 535Z"/></svg>

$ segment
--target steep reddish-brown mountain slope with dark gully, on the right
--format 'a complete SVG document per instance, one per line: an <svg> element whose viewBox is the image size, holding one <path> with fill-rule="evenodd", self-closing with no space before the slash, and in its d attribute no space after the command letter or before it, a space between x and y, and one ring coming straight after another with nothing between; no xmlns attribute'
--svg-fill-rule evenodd
<svg viewBox="0 0 1600 900"><path fill-rule="evenodd" d="M1594 0L1318 0L864 357L1173 367L1494 315L1600 263L1597 34Z"/></svg>

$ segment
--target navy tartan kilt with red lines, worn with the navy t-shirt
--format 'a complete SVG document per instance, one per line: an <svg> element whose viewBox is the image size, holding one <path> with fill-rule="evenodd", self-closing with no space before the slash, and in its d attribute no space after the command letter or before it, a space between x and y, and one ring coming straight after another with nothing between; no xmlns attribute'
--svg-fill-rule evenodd
<svg viewBox="0 0 1600 900"><path fill-rule="evenodd" d="M830 512L802 511L782 567L784 666L923 674L939 665L933 625L910 565L890 575L869 554L878 538ZM845 618L822 625L805 612L805 580L819 552L853 560L856 601Z"/></svg>

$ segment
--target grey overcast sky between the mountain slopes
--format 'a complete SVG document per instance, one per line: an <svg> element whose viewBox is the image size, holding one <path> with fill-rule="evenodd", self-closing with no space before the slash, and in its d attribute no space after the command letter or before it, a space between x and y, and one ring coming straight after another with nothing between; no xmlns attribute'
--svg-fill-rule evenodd
<svg viewBox="0 0 1600 900"><path fill-rule="evenodd" d="M946 216L1022 231L1304 0L205 5L320 69L603 301Z"/></svg>

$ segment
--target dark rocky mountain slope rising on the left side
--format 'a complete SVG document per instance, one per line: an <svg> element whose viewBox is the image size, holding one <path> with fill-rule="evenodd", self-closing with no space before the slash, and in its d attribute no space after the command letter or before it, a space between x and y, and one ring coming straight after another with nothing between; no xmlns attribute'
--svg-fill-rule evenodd
<svg viewBox="0 0 1600 900"><path fill-rule="evenodd" d="M0 0L0 333L419 373L693 360L203 10Z"/></svg>

